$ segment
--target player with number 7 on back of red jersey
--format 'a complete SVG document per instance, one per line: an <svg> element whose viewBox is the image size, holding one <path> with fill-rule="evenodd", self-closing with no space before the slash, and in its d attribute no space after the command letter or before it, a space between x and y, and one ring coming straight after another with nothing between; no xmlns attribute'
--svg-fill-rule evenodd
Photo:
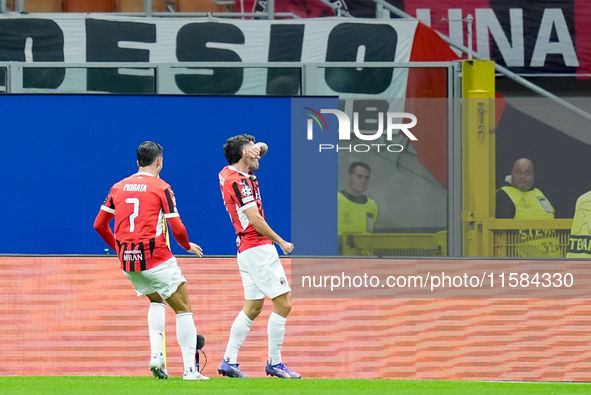
<svg viewBox="0 0 591 395"><path fill-rule="evenodd" d="M117 252L121 269L137 295L150 300L150 370L154 376L168 378L162 355L166 300L177 317L177 340L185 365L183 379L207 380L208 377L195 369L197 330L185 277L166 243L164 219L181 247L199 257L203 252L197 244L189 242L170 185L159 178L162 151L160 144L151 141L139 146L139 171L113 185L94 221L94 229ZM113 217L115 234L109 227Z"/></svg>

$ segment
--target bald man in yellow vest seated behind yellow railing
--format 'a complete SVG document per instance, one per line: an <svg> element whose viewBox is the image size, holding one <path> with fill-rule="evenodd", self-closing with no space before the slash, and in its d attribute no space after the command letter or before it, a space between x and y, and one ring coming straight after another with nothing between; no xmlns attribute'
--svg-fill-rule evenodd
<svg viewBox="0 0 591 395"><path fill-rule="evenodd" d="M554 207L542 191L533 188L534 165L518 159L506 185L496 193L496 217L514 219L554 219Z"/></svg>

